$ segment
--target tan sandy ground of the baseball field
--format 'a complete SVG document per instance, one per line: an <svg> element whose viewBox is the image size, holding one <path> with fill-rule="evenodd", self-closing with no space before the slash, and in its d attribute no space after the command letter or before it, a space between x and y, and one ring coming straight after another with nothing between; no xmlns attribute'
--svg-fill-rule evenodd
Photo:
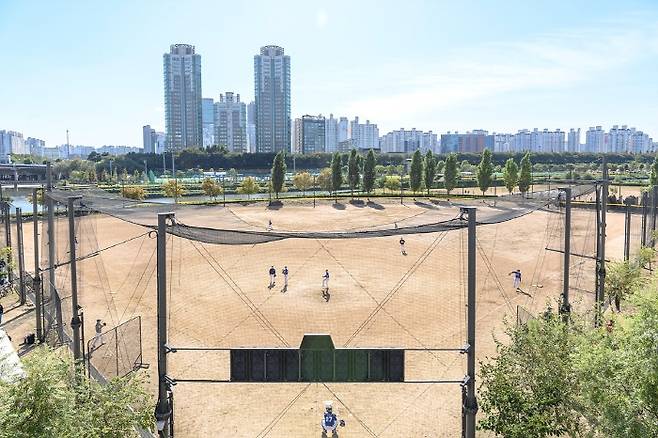
<svg viewBox="0 0 658 438"><path fill-rule="evenodd" d="M427 207L391 200L381 208L343 204L264 205L178 210L185 223L219 227L230 215L247 228L333 230L384 226ZM433 207L437 218L458 209ZM481 210L488 207L481 206ZM68 230L58 219L58 257L67 257ZM593 254L594 213L575 210L574 252ZM634 222L639 226L639 218ZM96 318L108 328L133 316L142 318L144 362L155 393L156 256L155 239L144 227L104 215L78 220L78 255L126 239L78 264L80 305L87 339ZM504 319L514 322L517 306L532 312L555 308L561 292L561 217L537 211L512 221L478 227L478 360L495 354L494 335ZM608 214L608 256L619 258L623 215ZM25 225L26 267L33 269L32 226ZM29 236L29 237L28 237ZM299 346L305 333L329 333L337 346L454 348L466 336L466 232L350 240L287 239L258 245L209 245L176 237L168 240L169 344L176 347ZM42 245L42 248L43 245ZM43 252L43 251L42 251ZM45 260L42 258L42 260ZM267 271L279 276L268 287ZM280 274L290 270L284 290ZM591 308L593 262L572 257L571 294L576 306ZM522 293L508 273L523 272ZM320 293L321 276L331 273L331 298ZM57 272L58 289L70 293L68 268ZM65 321L70 308L65 308ZM10 315L6 315L11 317ZM16 326L14 333L29 323ZM33 324L32 324L33 327ZM14 337L16 337L14 335ZM130 340L126 340L130 342ZM134 342L134 339L132 340ZM122 346L120 346L123 348ZM102 358L94 359L97 363ZM225 352L169 355L174 379L226 379ZM406 379L461 379L465 358L458 353L408 354ZM456 437L461 428L460 388L455 384L236 384L179 383L174 389L178 437L320 436L324 400L333 400L347 421L341 437Z"/></svg>

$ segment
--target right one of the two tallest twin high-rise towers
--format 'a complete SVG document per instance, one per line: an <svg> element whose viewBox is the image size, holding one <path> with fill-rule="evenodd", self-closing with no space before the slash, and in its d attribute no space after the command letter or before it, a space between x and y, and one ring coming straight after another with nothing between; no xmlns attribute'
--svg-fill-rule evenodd
<svg viewBox="0 0 658 438"><path fill-rule="evenodd" d="M264 46L254 56L256 152L290 151L290 56Z"/></svg>

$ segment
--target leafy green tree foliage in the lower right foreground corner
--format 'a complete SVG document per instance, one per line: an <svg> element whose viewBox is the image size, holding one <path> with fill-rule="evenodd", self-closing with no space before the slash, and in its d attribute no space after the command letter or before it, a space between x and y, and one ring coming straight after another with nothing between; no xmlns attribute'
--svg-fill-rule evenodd
<svg viewBox="0 0 658 438"><path fill-rule="evenodd" d="M658 436L658 291L644 285L604 328L591 315L508 326L482 364L480 428L504 437Z"/></svg>

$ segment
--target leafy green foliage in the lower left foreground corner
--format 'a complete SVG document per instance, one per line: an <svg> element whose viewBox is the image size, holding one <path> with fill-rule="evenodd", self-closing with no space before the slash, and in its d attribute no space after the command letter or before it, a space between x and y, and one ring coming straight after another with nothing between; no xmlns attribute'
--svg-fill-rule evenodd
<svg viewBox="0 0 658 438"><path fill-rule="evenodd" d="M103 386L76 373L67 352L46 347L31 352L23 365L23 379L0 381L2 438L123 438L135 427L152 428L151 399L138 377Z"/></svg>

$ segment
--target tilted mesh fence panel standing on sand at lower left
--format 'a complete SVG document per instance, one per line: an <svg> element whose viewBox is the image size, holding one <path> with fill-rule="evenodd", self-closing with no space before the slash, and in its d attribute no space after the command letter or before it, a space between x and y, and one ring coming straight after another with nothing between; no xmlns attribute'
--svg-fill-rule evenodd
<svg viewBox="0 0 658 438"><path fill-rule="evenodd" d="M89 364L106 380L142 367L142 318L135 316L87 342Z"/></svg>

